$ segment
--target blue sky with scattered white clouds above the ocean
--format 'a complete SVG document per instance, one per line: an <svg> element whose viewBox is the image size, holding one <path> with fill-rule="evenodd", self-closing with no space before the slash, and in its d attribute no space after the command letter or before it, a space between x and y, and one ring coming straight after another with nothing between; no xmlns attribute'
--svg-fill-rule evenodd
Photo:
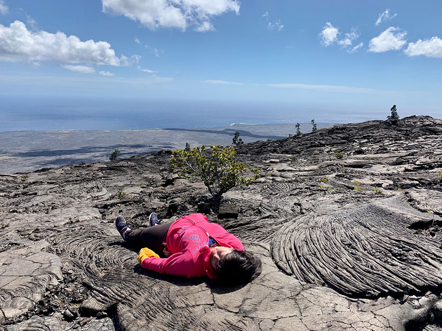
<svg viewBox="0 0 442 331"><path fill-rule="evenodd" d="M0 0L0 96L396 103L441 118L441 13L434 0Z"/></svg>

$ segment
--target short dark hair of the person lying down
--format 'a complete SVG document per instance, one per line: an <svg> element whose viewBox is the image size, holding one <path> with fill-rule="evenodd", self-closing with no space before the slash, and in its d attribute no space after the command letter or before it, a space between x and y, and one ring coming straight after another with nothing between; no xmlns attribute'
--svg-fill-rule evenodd
<svg viewBox="0 0 442 331"><path fill-rule="evenodd" d="M245 251L233 250L217 265L219 278L226 283L244 284L261 274L261 260Z"/></svg>

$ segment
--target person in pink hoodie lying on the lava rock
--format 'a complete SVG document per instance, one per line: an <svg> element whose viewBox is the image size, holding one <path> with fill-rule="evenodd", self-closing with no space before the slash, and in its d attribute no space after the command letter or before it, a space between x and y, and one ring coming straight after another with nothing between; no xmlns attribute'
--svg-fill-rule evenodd
<svg viewBox="0 0 442 331"><path fill-rule="evenodd" d="M247 283L261 274L261 260L245 252L237 237L209 223L202 214L161 224L152 213L149 223L149 228L132 230L123 216L115 220L116 229L127 243L144 247L138 262L145 269L176 276L207 275L229 284Z"/></svg>

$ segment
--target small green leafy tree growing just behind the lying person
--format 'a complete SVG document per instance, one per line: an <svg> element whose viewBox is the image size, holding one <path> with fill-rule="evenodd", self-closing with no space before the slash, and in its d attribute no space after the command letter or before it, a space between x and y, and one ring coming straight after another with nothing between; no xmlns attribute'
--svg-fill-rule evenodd
<svg viewBox="0 0 442 331"><path fill-rule="evenodd" d="M186 178L193 177L202 180L213 197L212 209L217 211L221 196L232 187L249 185L259 178L258 169L251 169L254 176L241 176L248 169L244 163L235 160L236 151L233 146L220 147L210 145L211 154L205 156L206 147L194 147L190 152L184 150L172 151L170 166L178 169L179 175ZM206 153L207 154L207 153Z"/></svg>

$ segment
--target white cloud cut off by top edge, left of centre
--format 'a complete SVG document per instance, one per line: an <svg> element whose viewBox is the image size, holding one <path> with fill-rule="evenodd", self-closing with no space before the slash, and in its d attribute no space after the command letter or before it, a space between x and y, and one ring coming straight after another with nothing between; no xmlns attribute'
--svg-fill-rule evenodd
<svg viewBox="0 0 442 331"><path fill-rule="evenodd" d="M239 14L236 0L101 0L103 11L123 15L150 29L178 28L189 25L207 31L210 19L228 11Z"/></svg>

